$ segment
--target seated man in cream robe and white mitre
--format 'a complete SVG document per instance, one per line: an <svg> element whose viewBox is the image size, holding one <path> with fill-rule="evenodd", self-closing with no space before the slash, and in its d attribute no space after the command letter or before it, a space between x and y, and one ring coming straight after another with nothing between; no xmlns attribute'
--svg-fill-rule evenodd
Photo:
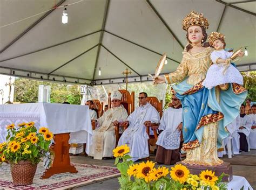
<svg viewBox="0 0 256 190"><path fill-rule="evenodd" d="M96 129L93 130L92 145L89 156L94 159L110 158L112 150L116 146L114 127L119 122L125 121L127 111L120 105L122 94L119 91L111 93L112 108L104 112L103 116L96 119Z"/></svg>

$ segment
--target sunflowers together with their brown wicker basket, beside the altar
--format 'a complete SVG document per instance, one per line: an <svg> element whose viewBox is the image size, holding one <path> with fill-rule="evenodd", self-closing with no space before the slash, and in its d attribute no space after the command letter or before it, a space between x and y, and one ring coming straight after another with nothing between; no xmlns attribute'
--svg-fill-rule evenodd
<svg viewBox="0 0 256 190"><path fill-rule="evenodd" d="M42 127L37 131L34 122L7 126L6 142L0 144L0 164L10 163L12 181L15 185L30 185L37 164L43 157L51 163L49 146L52 132Z"/></svg>

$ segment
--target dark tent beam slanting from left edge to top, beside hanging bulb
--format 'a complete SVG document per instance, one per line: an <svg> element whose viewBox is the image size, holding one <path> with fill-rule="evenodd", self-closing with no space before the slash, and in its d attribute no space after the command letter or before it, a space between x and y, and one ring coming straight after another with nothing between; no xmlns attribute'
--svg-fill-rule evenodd
<svg viewBox="0 0 256 190"><path fill-rule="evenodd" d="M11 41L11 43L9 43L8 45L6 45L1 51L0 53L3 53L5 50L7 50L12 44L14 44L16 41L18 41L19 38L23 37L26 33L28 33L34 26L36 26L38 23L40 23L45 17L47 17L48 15L50 15L51 12L53 12L54 10L56 10L56 7L58 7L59 5L61 5L62 3L64 3L66 0L61 0L58 4L56 4L55 6L53 6L53 8L46 12L42 17L40 17L38 20L36 20L36 22L34 22L32 25L30 25L25 31L23 31L21 34L19 34L19 36L17 36L14 40ZM55 8L55 9L54 9Z"/></svg>

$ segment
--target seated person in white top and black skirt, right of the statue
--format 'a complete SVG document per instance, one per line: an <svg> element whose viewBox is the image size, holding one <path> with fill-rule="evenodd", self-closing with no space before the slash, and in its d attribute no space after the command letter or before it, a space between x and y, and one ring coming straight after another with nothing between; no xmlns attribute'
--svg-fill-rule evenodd
<svg viewBox="0 0 256 190"><path fill-rule="evenodd" d="M240 151L248 152L247 137L250 135L252 128L252 118L250 115L245 114L245 105L242 104L240 108L241 124L238 129L240 135Z"/></svg>

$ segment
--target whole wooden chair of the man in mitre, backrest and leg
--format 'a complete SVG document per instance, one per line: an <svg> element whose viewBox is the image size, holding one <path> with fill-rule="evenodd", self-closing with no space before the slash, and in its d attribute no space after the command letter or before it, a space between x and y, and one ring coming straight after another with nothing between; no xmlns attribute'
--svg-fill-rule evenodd
<svg viewBox="0 0 256 190"><path fill-rule="evenodd" d="M124 108L127 111L127 114L130 115L134 111L134 92L129 93L127 90L119 90L119 92L122 94L121 104L124 106ZM111 108L111 93L109 93L109 108ZM127 128L127 126L123 126L124 130ZM118 144L118 140L120 138L119 135L119 128L120 125L115 126L114 132L116 134L116 145Z"/></svg>

